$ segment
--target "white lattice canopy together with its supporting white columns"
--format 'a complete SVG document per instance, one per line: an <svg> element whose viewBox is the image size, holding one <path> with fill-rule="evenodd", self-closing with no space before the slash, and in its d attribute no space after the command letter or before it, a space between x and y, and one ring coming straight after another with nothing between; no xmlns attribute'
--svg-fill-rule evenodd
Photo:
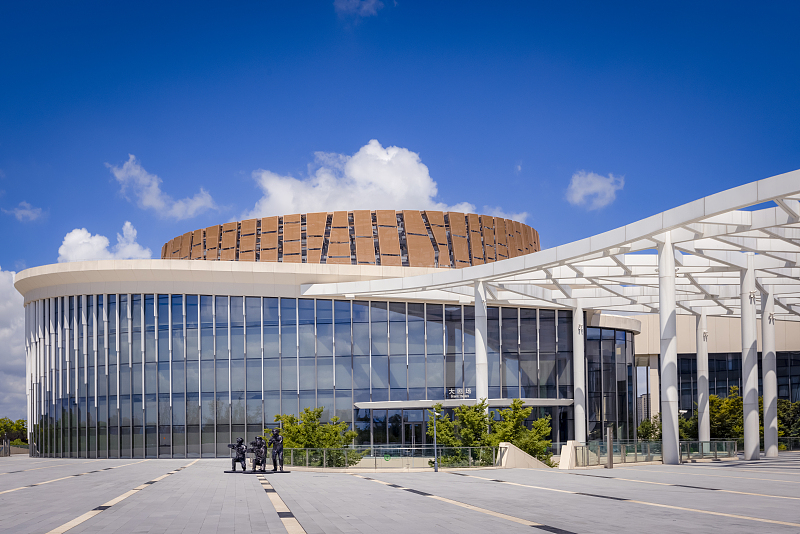
<svg viewBox="0 0 800 534"><path fill-rule="evenodd" d="M742 321L745 458L759 455L756 313L762 317L765 449L777 454L774 320L800 321L800 170L722 191L627 226L533 254L422 276L310 284L307 296L424 298L476 304L478 397L486 305L574 310L575 436L585 440L583 310L659 313L664 461L677 463L675 315L697 316L700 439L708 440L705 317ZM800 325L798 325L800 328ZM482 340L482 343L480 342ZM482 345L482 346L481 346ZM770 353L771 350L771 353ZM705 352L704 352L705 351ZM703 378L705 373L705 383Z"/></svg>

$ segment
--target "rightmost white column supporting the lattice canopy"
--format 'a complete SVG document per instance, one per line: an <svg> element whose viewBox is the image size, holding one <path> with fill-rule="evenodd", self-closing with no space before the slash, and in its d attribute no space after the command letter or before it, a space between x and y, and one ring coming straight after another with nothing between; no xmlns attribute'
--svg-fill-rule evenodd
<svg viewBox="0 0 800 534"><path fill-rule="evenodd" d="M775 361L775 298L761 293L761 384L764 391L764 453L778 457L778 378Z"/></svg>

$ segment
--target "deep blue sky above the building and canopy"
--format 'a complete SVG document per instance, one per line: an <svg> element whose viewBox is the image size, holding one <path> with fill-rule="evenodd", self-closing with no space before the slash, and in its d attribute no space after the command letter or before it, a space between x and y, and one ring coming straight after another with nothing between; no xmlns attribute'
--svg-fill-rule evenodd
<svg viewBox="0 0 800 534"><path fill-rule="evenodd" d="M545 247L794 170L798 15L793 2L6 2L5 300L11 271L58 261L76 229L83 253L157 256L188 230L302 208L278 186L326 176L317 202L362 207L346 186L373 139L398 165L366 191L411 169L421 189L398 209L525 213ZM18 355L0 365L2 382Z"/></svg>

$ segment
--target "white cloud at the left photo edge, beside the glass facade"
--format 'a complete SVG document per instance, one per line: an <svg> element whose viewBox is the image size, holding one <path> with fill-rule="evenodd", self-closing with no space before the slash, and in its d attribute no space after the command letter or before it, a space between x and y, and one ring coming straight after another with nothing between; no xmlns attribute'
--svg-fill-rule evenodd
<svg viewBox="0 0 800 534"><path fill-rule="evenodd" d="M24 419L25 310L14 274L0 270L0 417Z"/></svg>

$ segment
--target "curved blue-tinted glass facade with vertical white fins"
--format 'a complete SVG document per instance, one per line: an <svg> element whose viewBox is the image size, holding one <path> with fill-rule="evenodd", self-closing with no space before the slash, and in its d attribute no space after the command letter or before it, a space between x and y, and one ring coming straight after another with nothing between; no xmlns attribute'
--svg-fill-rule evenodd
<svg viewBox="0 0 800 534"><path fill-rule="evenodd" d="M317 406L357 444L423 444L425 410L408 401L475 398L472 306L73 295L30 302L26 328L32 450L46 456L228 457L232 437ZM631 435L632 351L630 333L587 329L591 436L603 422ZM488 308L487 358L490 399L572 399L572 312ZM554 442L572 437L561 404L532 414L552 416Z"/></svg>

